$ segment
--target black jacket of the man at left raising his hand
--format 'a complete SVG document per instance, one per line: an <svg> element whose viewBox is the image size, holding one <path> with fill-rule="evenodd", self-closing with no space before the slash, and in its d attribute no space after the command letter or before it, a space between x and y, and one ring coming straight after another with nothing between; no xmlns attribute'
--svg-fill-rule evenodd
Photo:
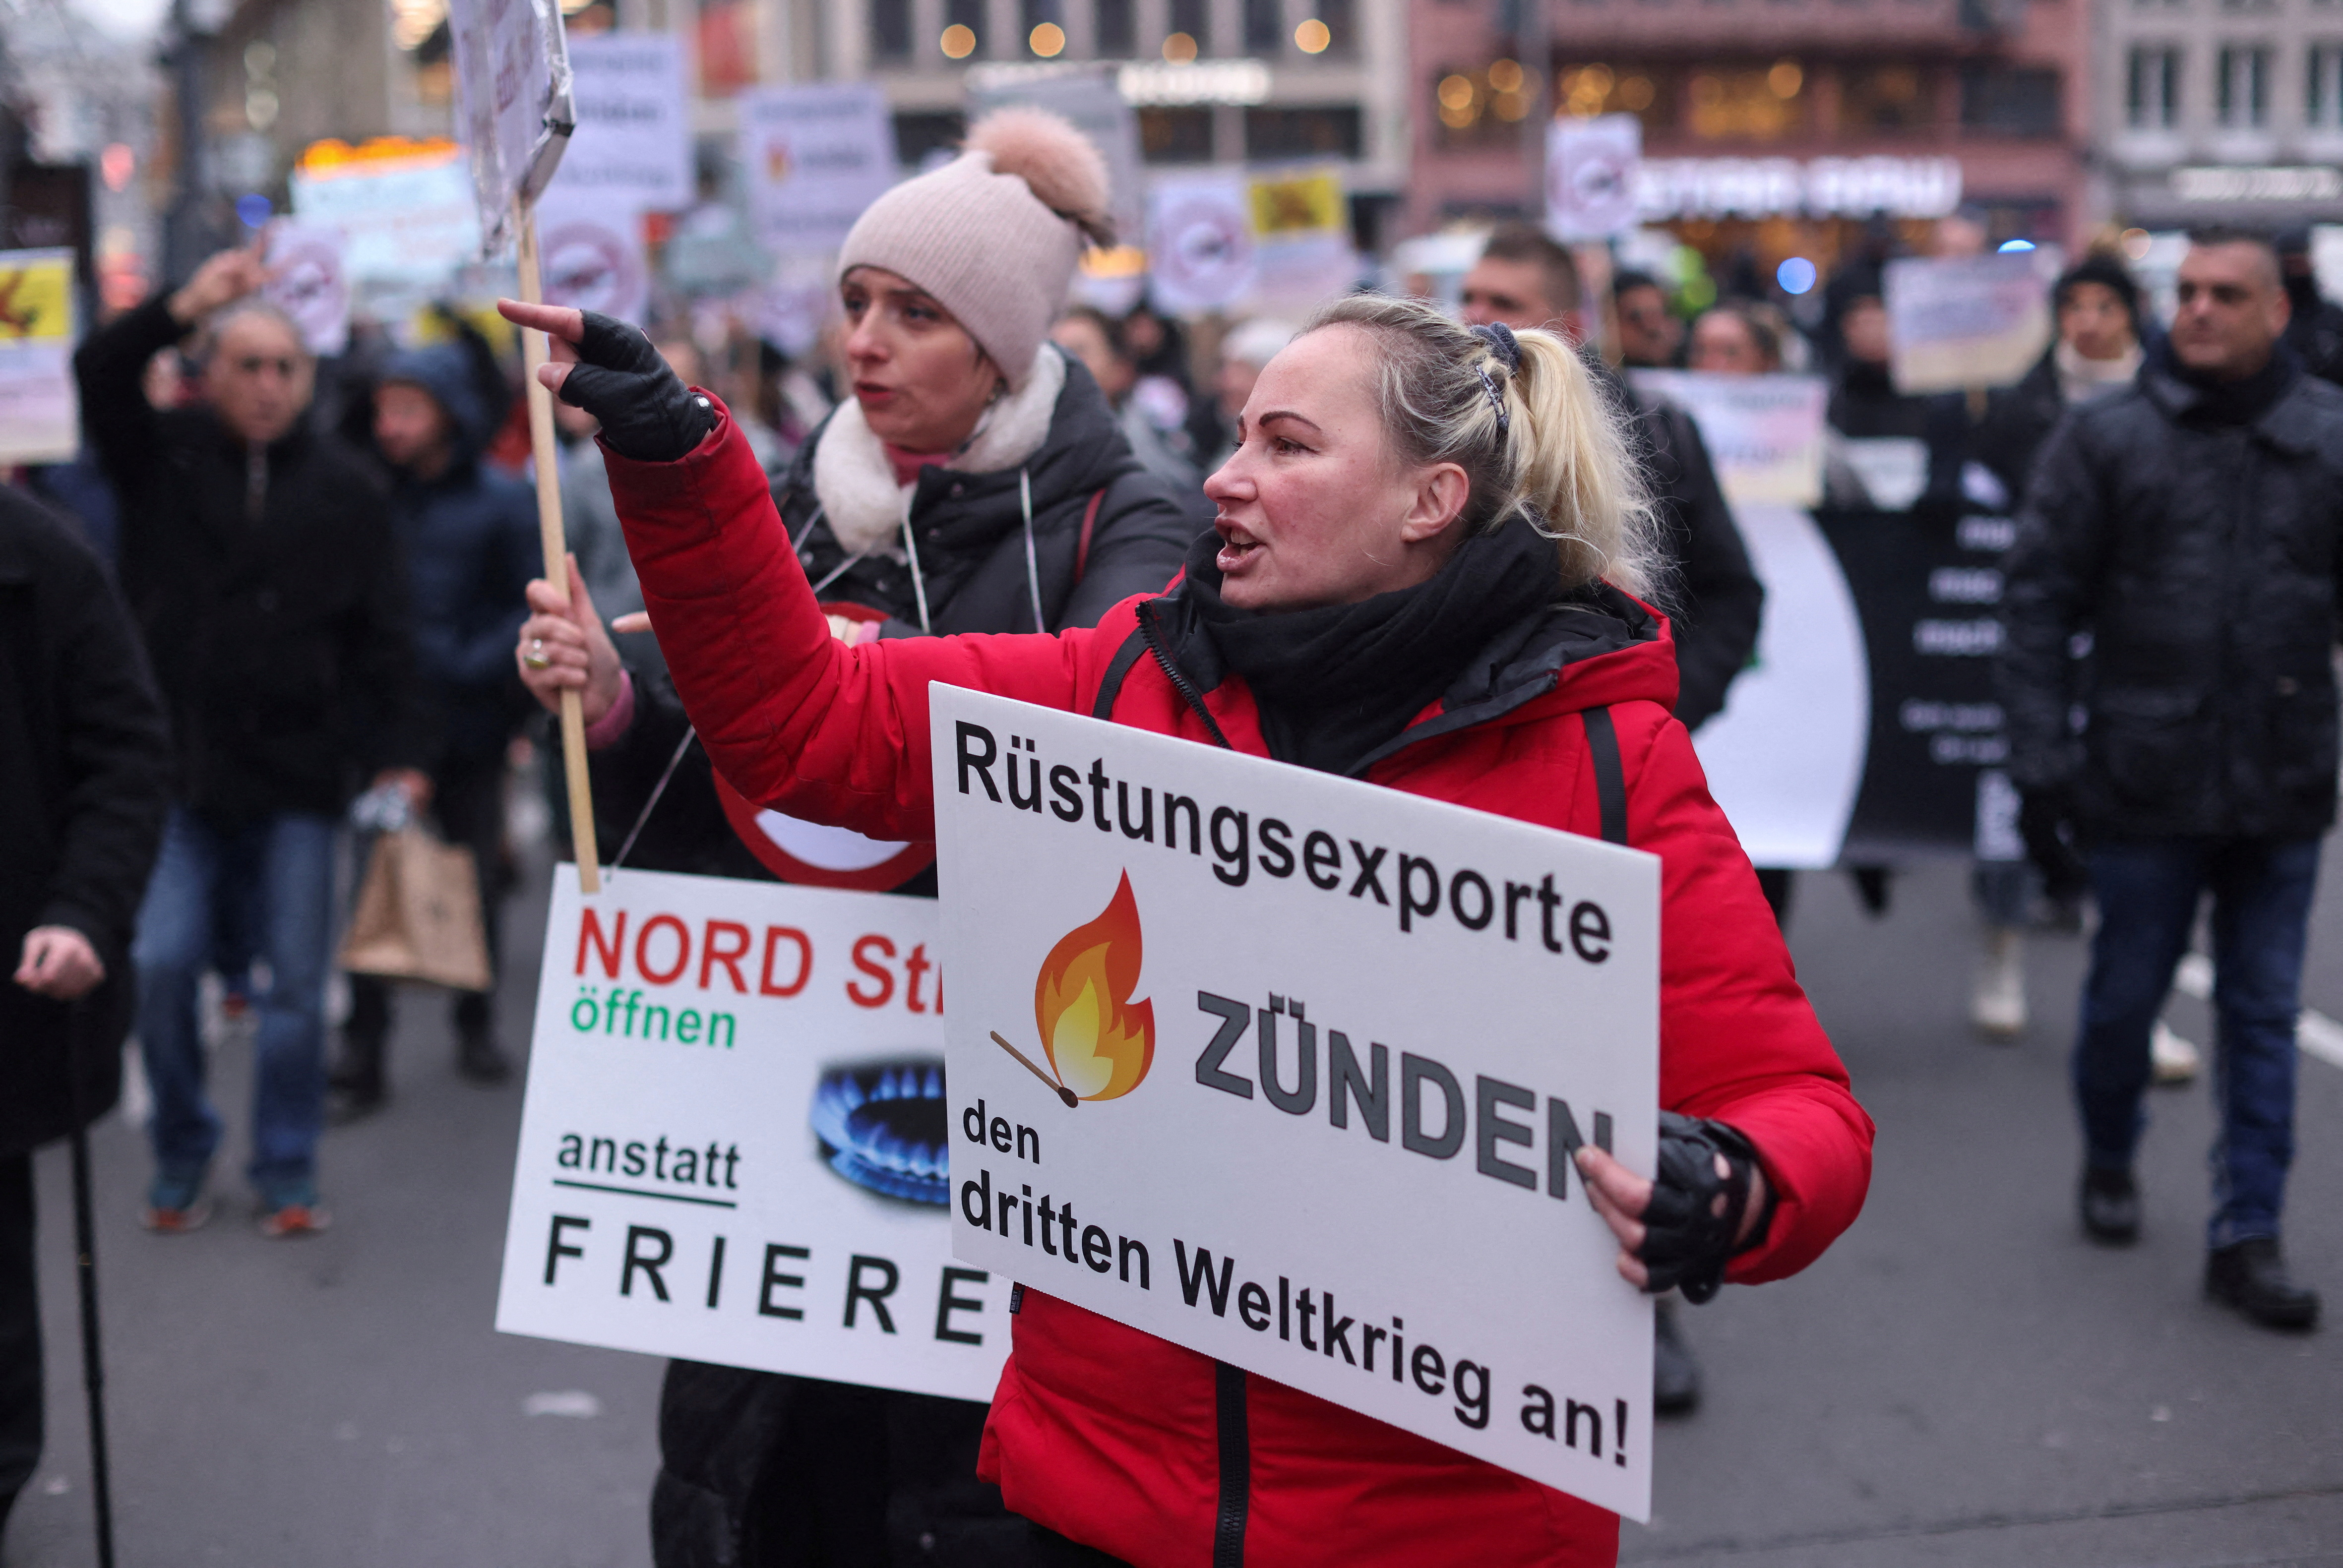
<svg viewBox="0 0 2343 1568"><path fill-rule="evenodd" d="M335 813L368 771L424 762L382 485L309 420L251 452L209 410L148 405L148 361L185 333L152 300L75 354L178 797L225 818Z"/></svg>

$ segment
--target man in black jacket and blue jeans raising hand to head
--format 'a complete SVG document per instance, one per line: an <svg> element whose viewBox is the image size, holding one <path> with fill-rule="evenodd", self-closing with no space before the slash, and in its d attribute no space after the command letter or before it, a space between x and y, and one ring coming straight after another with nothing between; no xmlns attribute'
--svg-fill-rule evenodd
<svg viewBox="0 0 2343 1568"><path fill-rule="evenodd" d="M155 1090L148 1223L209 1214L220 1118L204 1095L194 989L223 909L258 895L253 1160L267 1235L326 1223L323 1111L333 841L368 771L422 804L408 612L382 492L312 429L316 366L293 323L248 302L255 251L94 333L75 359L82 417L122 497L122 586L162 673L178 790L138 912L138 1041ZM206 326L204 405L157 413L145 363Z"/></svg>

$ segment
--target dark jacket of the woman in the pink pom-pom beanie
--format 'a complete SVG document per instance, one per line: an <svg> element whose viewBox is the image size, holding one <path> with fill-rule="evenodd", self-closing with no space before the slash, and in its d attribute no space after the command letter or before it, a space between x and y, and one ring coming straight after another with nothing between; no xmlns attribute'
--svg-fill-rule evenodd
<svg viewBox="0 0 2343 1568"><path fill-rule="evenodd" d="M815 431L773 485L799 563L813 581L834 574L822 600L883 612L888 635L916 638L909 563L872 553L846 567L846 551L818 516L813 462L825 434ZM1078 363L1066 363L1050 434L1022 466L1033 492L1031 579L1019 469L921 476L911 525L940 633L1029 630L1036 584L1050 630L1094 626L1118 600L1172 581L1202 532L1202 520L1132 457L1106 396ZM595 823L612 846L633 830L689 727L665 675L630 675L635 722L590 762ZM773 877L724 820L698 745L684 750L628 863ZM897 891L933 898L933 867ZM670 1362L658 1402L651 1556L658 1568L1017 1568L1026 1561L1026 1526L1003 1512L998 1488L975 1477L982 1432L984 1406L965 1399Z"/></svg>

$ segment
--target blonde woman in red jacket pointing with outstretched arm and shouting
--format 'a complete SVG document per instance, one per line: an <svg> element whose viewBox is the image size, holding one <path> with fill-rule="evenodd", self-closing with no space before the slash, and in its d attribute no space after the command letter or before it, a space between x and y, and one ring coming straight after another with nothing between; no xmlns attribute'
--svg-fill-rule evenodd
<svg viewBox="0 0 2343 1568"><path fill-rule="evenodd" d="M928 682L1366 778L1661 858L1661 1158L1582 1170L1619 1273L1706 1298L1811 1263L1863 1207L1872 1123L1668 717L1649 511L1565 342L1350 298L1263 370L1214 532L1094 630L848 647L724 408L640 333L506 305L602 417L668 668L750 799L935 832ZM1422 1437L1026 1289L982 1474L1036 1563L1617 1556L1619 1521Z"/></svg>

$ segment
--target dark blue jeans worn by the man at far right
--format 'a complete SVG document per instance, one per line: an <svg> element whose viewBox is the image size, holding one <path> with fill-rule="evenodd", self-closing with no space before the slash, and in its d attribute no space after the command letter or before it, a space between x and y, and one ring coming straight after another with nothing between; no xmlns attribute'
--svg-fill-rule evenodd
<svg viewBox="0 0 2343 1568"><path fill-rule="evenodd" d="M2209 1247L2277 1235L2294 1163L2294 1020L2320 877L2317 839L2151 839L2090 853L2099 935L2083 982L2074 1097L2090 1165L2130 1170L2146 1125L2149 1031L2212 893L2214 1102Z"/></svg>

